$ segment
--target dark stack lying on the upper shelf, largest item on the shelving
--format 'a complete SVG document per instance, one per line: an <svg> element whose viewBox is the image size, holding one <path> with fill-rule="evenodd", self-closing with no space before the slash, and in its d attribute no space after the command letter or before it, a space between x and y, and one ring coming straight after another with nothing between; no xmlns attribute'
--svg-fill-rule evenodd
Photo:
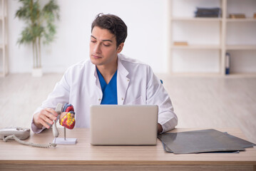
<svg viewBox="0 0 256 171"><path fill-rule="evenodd" d="M221 17L220 8L200 8L197 7L195 17Z"/></svg>

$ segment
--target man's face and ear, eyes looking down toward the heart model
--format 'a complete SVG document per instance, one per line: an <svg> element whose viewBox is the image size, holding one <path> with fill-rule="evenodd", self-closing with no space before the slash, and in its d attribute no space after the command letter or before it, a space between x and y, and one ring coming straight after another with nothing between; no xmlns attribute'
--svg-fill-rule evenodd
<svg viewBox="0 0 256 171"><path fill-rule="evenodd" d="M90 58L96 66L115 66L117 54L123 49L123 43L116 47L116 36L108 29L95 26L91 33Z"/></svg>

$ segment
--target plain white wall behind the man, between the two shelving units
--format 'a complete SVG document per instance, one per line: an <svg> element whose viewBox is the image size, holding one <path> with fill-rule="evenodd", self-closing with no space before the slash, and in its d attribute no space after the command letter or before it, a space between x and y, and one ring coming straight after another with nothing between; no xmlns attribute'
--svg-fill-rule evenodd
<svg viewBox="0 0 256 171"><path fill-rule="evenodd" d="M98 13L116 14L128 26L124 54L152 66L155 73L168 71L166 44L168 0L58 0L61 20L56 23L56 41L42 47L43 72L62 73L89 54L91 23ZM19 1L9 0L9 71L31 72L31 46L18 46L24 22L15 19Z"/></svg>

